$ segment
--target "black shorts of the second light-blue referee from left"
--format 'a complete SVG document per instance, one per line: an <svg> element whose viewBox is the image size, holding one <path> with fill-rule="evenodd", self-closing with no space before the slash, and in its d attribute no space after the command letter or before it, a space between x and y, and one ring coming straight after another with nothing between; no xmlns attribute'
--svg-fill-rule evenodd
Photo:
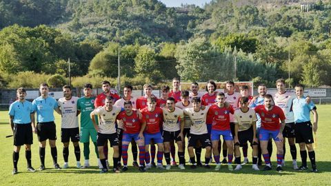
<svg viewBox="0 0 331 186"><path fill-rule="evenodd" d="M37 123L38 141L57 140L57 127L54 121Z"/></svg>

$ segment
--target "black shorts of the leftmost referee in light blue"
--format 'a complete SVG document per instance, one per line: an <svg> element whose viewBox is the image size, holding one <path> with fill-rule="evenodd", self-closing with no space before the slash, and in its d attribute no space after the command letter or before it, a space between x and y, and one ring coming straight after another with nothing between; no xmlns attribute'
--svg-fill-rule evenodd
<svg viewBox="0 0 331 186"><path fill-rule="evenodd" d="M14 123L14 145L21 146L24 144L31 145L33 141L31 123L16 124Z"/></svg>

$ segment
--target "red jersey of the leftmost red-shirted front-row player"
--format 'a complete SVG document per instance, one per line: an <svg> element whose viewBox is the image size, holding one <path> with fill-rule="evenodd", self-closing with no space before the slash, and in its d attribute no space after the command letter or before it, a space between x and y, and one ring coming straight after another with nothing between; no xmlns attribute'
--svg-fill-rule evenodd
<svg viewBox="0 0 331 186"><path fill-rule="evenodd" d="M132 112L133 113L131 116L126 115L126 111L123 111L119 113L119 115L117 115L117 119L123 121L124 133L126 134L139 133L141 129L141 123L143 123L143 119L139 119L139 117L137 116L137 112Z"/></svg>

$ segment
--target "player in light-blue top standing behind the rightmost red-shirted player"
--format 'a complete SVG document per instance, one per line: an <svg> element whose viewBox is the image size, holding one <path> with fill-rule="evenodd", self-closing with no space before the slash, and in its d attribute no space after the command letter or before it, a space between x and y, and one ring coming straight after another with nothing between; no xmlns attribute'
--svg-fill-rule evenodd
<svg viewBox="0 0 331 186"><path fill-rule="evenodd" d="M250 101L250 107L254 109L254 107L257 107L258 105L263 105L264 103L264 96L267 93L267 87L264 84L260 84L257 87L257 93L259 93L259 96L254 96L252 101ZM261 117L257 115L257 137L259 138L260 134L260 128L261 128ZM272 141L271 139L268 142L268 153L271 157L272 155ZM259 145L259 154L258 156L258 165L262 164L262 152L261 152L261 145Z"/></svg>

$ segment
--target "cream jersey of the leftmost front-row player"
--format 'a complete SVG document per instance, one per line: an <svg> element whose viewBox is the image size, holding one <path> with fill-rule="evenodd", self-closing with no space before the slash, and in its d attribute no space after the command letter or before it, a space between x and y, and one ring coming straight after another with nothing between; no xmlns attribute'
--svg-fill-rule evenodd
<svg viewBox="0 0 331 186"><path fill-rule="evenodd" d="M107 111L105 107L98 107L92 114L99 116L99 130L101 134L114 134L117 132L115 121L121 112L121 107L113 106L112 111Z"/></svg>

